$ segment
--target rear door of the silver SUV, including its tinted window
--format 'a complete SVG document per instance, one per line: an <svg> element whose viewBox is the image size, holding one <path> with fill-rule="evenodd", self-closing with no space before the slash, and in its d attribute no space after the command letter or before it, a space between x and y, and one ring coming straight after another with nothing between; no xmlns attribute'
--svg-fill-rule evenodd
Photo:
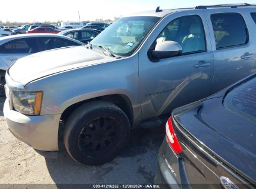
<svg viewBox="0 0 256 189"><path fill-rule="evenodd" d="M243 9L207 9L206 15L214 53L213 94L254 73L255 27Z"/></svg>

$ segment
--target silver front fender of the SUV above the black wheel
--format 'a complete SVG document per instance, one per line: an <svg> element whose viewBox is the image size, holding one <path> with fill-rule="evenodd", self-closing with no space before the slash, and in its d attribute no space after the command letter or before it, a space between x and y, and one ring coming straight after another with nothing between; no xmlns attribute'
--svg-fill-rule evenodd
<svg viewBox="0 0 256 189"><path fill-rule="evenodd" d="M40 114L62 114L72 104L110 94L130 99L133 112L140 112L138 55L45 76L25 86L43 91ZM136 116L136 115L135 115Z"/></svg>

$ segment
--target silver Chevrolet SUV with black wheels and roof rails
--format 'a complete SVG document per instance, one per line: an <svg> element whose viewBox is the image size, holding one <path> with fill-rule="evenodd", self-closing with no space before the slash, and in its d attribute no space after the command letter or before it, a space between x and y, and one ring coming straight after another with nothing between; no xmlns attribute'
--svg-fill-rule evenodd
<svg viewBox="0 0 256 189"><path fill-rule="evenodd" d="M21 58L6 73L7 125L40 154L54 157L60 139L77 162L108 162L131 129L158 126L256 71L253 12L158 7L115 21L87 47ZM144 29L119 36L124 25Z"/></svg>

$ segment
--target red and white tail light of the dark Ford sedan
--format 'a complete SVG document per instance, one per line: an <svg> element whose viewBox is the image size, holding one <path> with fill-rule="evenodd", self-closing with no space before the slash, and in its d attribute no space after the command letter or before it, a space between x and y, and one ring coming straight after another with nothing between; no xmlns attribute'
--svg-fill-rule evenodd
<svg viewBox="0 0 256 189"><path fill-rule="evenodd" d="M181 149L181 145L179 144L179 141L178 141L178 139L176 137L176 134L173 130L172 118L168 119L168 122L166 122L165 127L166 127L167 142L169 143L169 145L171 146L173 151L176 154L179 154L179 153L183 152L183 149Z"/></svg>

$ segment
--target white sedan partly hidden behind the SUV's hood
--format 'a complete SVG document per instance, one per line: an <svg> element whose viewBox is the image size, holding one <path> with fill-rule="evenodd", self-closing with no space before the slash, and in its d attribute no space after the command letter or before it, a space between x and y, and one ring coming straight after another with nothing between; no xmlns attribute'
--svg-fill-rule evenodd
<svg viewBox="0 0 256 189"><path fill-rule="evenodd" d="M0 96L4 95L6 70L18 58L54 48L84 45L64 35L26 34L0 38Z"/></svg>

